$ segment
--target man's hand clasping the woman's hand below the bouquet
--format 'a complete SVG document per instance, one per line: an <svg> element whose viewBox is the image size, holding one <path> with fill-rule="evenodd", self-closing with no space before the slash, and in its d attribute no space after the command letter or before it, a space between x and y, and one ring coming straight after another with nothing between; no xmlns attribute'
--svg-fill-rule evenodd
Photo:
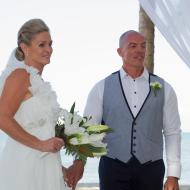
<svg viewBox="0 0 190 190"><path fill-rule="evenodd" d="M75 160L73 165L67 169L67 184L75 190L78 181L82 178L84 172L84 164L81 160Z"/></svg>

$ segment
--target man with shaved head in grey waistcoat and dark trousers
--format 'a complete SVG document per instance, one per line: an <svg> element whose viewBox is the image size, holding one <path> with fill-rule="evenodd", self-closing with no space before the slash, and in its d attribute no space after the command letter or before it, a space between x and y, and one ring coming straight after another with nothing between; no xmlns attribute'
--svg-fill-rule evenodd
<svg viewBox="0 0 190 190"><path fill-rule="evenodd" d="M180 118L172 87L144 67L146 39L136 31L121 35L122 68L91 90L84 115L113 128L108 154L99 164L100 190L178 190ZM157 85L154 83L157 82Z"/></svg>

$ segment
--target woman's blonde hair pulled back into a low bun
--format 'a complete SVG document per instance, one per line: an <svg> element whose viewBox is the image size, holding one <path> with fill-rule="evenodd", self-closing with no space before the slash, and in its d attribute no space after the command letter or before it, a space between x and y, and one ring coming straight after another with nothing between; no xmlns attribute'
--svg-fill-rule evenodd
<svg viewBox="0 0 190 190"><path fill-rule="evenodd" d="M41 32L49 32L49 27L41 19L31 19L21 26L17 35L18 47L16 48L15 52L15 57L19 61L23 61L25 58L20 44L25 43L26 45L30 45L31 40L34 38L34 36Z"/></svg>

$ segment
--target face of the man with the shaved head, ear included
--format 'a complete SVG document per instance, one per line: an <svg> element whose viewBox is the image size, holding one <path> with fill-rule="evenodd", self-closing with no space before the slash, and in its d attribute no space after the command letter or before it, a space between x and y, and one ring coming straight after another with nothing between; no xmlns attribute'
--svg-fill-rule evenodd
<svg viewBox="0 0 190 190"><path fill-rule="evenodd" d="M123 67L143 68L146 52L145 38L137 33L129 34L123 39L118 53L123 59Z"/></svg>

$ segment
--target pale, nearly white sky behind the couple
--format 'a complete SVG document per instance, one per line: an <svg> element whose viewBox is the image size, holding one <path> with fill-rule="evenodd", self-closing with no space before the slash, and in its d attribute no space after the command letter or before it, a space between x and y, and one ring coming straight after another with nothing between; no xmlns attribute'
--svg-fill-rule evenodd
<svg viewBox="0 0 190 190"><path fill-rule="evenodd" d="M82 113L91 87L120 69L119 36L138 30L137 0L6 0L0 7L0 70L16 47L20 26L31 18L42 18L50 27L54 53L43 77L51 81L64 108L76 101ZM190 131L190 69L156 31L155 73L175 89L182 129Z"/></svg>

